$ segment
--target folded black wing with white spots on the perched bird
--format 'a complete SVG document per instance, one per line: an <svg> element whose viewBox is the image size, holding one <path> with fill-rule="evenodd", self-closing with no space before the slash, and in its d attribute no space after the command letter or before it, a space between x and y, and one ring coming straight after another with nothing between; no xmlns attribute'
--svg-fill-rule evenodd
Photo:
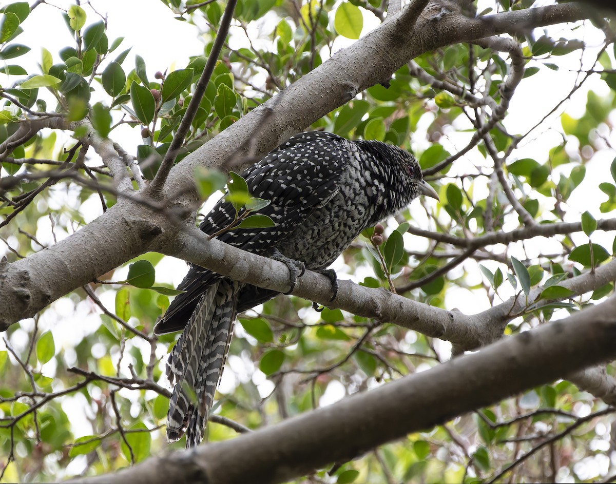
<svg viewBox="0 0 616 484"><path fill-rule="evenodd" d="M269 254L315 209L336 195L342 174L349 166L348 143L330 133L304 132L246 169L241 175L248 184L249 193L271 200L258 213L269 216L276 225L237 228L216 238L249 252ZM203 219L200 228L213 234L227 227L234 217L232 203L221 198ZM219 277L208 269L190 265L178 286L185 292L171 302L163 320L155 326L155 333L171 333L184 328L203 291Z"/></svg>

